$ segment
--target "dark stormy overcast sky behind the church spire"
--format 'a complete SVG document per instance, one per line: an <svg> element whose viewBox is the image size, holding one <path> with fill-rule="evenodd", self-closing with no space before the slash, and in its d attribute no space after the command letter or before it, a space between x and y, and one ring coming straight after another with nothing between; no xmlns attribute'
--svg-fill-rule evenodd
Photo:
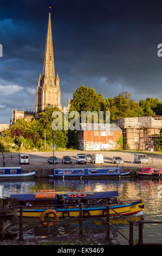
<svg viewBox="0 0 162 256"><path fill-rule="evenodd" d="M35 110L49 5L62 106L82 84L104 98L162 101L161 1L0 0L0 123L12 108Z"/></svg>

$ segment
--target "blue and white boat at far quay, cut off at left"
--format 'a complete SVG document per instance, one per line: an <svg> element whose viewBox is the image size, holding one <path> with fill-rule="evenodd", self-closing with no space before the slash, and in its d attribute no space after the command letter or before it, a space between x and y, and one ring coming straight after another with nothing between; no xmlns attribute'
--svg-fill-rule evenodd
<svg viewBox="0 0 162 256"><path fill-rule="evenodd" d="M21 167L0 167L0 180L31 179L35 172L22 173Z"/></svg>

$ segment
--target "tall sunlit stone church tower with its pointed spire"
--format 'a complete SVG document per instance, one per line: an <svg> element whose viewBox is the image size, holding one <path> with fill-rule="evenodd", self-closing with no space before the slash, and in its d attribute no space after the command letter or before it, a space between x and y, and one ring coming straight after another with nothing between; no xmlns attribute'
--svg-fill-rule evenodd
<svg viewBox="0 0 162 256"><path fill-rule="evenodd" d="M41 113L46 107L57 107L60 109L60 111L62 111L59 74L57 73L57 76L55 77L50 13L48 20L46 49L44 54L43 74L42 77L40 74L36 89L36 119L40 118L39 113Z"/></svg>

